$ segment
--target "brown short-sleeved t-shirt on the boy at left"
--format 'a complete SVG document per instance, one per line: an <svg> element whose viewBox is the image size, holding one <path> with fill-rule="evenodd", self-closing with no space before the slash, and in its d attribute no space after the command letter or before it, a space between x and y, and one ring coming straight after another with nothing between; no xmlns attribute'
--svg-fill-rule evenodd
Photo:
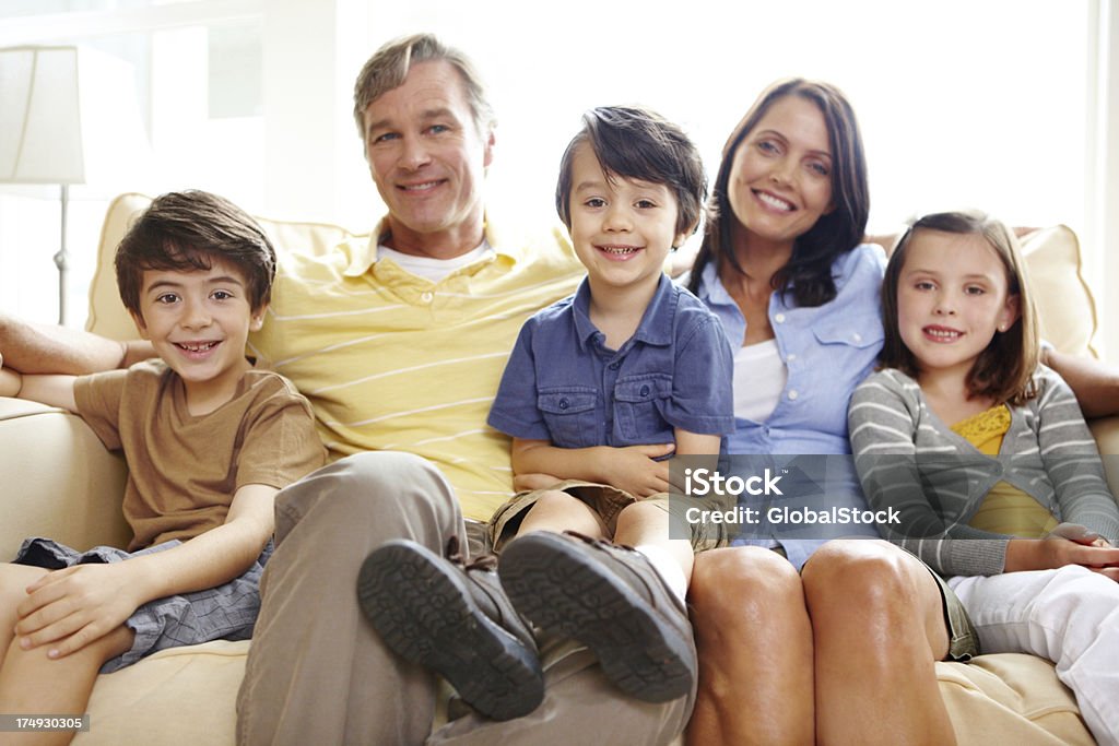
<svg viewBox="0 0 1119 746"><path fill-rule="evenodd" d="M307 399L267 370L246 372L233 399L199 417L160 360L79 377L74 399L102 443L124 452L130 551L216 528L241 487L280 489L325 459Z"/></svg>

